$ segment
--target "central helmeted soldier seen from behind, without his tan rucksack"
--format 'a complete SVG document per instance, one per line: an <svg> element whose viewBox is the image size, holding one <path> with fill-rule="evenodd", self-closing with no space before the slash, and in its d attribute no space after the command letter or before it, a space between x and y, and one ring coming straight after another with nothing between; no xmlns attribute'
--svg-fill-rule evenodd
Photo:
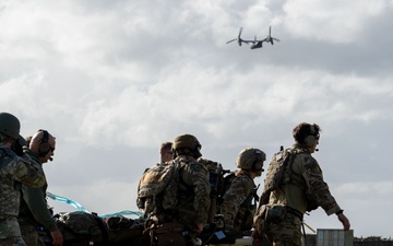
<svg viewBox="0 0 393 246"><path fill-rule="evenodd" d="M192 134L178 136L172 142L175 162L179 164L178 204L151 218L152 245L192 246L203 231L210 207L209 171L195 160L202 156L201 144Z"/></svg>

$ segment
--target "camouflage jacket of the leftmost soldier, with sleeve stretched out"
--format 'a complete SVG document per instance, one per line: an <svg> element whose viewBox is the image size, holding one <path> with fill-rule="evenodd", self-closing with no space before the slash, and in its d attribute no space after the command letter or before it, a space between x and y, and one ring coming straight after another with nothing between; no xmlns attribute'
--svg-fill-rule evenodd
<svg viewBox="0 0 393 246"><path fill-rule="evenodd" d="M32 187L45 185L43 168L28 156L17 156L0 145L0 219L16 218L20 207L19 183Z"/></svg>

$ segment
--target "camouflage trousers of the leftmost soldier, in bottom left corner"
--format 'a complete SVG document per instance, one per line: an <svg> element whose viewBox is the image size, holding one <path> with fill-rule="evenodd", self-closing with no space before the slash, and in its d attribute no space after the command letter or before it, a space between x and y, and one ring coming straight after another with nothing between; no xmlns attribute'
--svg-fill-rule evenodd
<svg viewBox="0 0 393 246"><path fill-rule="evenodd" d="M16 218L0 219L0 246L26 246Z"/></svg>

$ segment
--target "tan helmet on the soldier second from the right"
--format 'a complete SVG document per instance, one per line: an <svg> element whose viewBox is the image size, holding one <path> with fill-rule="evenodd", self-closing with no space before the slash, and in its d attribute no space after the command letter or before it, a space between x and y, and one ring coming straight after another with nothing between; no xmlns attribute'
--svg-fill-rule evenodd
<svg viewBox="0 0 393 246"><path fill-rule="evenodd" d="M266 160L266 154L254 148L246 148L240 151L236 159L236 166L241 169L257 169L261 171L263 162ZM262 165L257 165L255 163L261 163Z"/></svg>

